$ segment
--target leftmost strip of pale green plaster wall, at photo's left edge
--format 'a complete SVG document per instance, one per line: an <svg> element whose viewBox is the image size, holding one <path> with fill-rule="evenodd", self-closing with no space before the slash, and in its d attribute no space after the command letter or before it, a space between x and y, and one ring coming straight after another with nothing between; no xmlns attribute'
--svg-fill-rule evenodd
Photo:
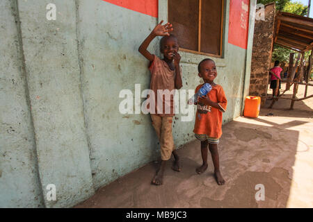
<svg viewBox="0 0 313 222"><path fill-rule="evenodd" d="M42 207L17 6L0 1L0 207Z"/></svg>

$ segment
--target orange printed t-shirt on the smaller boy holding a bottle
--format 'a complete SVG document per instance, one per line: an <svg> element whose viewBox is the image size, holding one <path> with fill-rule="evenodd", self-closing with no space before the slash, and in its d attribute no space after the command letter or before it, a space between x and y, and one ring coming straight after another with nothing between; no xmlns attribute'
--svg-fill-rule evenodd
<svg viewBox="0 0 313 222"><path fill-rule="evenodd" d="M198 92L203 84L198 85L195 93ZM209 99L214 103L218 103L221 110L211 107L210 105L197 104L197 112L195 114L195 128L193 133L204 134L212 138L220 138L222 135L222 118L223 112L226 111L227 99L224 89L221 85L212 86L211 91L207 94ZM199 118L200 115L200 118Z"/></svg>

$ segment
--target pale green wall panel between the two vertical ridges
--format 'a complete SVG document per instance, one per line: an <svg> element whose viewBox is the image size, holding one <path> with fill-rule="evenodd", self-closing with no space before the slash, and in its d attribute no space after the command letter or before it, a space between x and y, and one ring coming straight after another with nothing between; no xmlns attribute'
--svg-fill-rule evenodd
<svg viewBox="0 0 313 222"><path fill-rule="evenodd" d="M54 1L56 21L46 19L50 0L18 1L42 189L56 185L47 207L74 205L93 194L84 126L75 1Z"/></svg>

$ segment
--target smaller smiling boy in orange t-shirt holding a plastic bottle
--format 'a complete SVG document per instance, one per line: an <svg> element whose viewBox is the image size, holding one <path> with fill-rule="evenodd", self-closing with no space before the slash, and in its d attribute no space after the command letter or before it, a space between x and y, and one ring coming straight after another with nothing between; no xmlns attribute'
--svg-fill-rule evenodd
<svg viewBox="0 0 313 222"><path fill-rule="evenodd" d="M197 173L203 173L207 169L207 146L211 152L214 164L214 176L218 185L223 185L225 180L220 173L220 163L218 157L219 138L222 135L222 117L226 111L227 99L223 87L214 83L217 76L214 60L209 58L202 60L198 65L198 76L209 83L211 91L202 97L198 97L197 113L195 115L195 128L193 133L201 142L202 166L196 169ZM203 84L198 85L195 92L198 92Z"/></svg>

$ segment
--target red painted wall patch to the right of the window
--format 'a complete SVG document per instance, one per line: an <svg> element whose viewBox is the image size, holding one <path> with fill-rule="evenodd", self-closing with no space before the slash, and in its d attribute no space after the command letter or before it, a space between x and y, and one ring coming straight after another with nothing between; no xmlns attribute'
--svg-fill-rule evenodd
<svg viewBox="0 0 313 222"><path fill-rule="evenodd" d="M247 49L250 0L230 0L228 43Z"/></svg>

